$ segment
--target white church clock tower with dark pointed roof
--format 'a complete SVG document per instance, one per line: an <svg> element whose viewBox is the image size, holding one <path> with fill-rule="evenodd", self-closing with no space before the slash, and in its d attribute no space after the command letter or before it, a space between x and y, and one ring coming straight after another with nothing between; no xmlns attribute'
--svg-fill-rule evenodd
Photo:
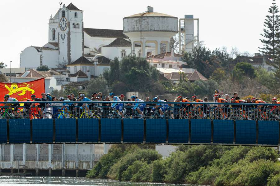
<svg viewBox="0 0 280 186"><path fill-rule="evenodd" d="M72 3L63 4L54 18L57 27L49 24L49 42L58 42L58 61L70 64L84 55L83 11Z"/></svg>

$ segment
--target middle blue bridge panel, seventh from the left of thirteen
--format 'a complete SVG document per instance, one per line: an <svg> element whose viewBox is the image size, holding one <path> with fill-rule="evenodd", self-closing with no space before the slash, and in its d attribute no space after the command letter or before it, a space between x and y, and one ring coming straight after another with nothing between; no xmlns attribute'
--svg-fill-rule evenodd
<svg viewBox="0 0 280 186"><path fill-rule="evenodd" d="M143 143L143 137L143 119L124 119L124 142Z"/></svg>

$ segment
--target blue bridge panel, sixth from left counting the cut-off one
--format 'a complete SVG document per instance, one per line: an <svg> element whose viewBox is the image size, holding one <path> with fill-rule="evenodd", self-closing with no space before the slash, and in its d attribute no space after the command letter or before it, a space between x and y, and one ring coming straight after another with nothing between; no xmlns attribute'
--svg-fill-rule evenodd
<svg viewBox="0 0 280 186"><path fill-rule="evenodd" d="M122 137L120 119L101 118L101 142L120 143Z"/></svg>

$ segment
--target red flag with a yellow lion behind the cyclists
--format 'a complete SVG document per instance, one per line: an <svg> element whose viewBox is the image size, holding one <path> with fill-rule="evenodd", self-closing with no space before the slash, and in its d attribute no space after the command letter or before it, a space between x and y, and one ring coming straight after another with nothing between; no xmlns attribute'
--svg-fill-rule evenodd
<svg viewBox="0 0 280 186"><path fill-rule="evenodd" d="M40 98L43 92L45 92L44 78L21 83L0 82L0 100L4 100L4 96L9 94L10 97L16 98L18 101L26 101L31 100L33 94Z"/></svg>

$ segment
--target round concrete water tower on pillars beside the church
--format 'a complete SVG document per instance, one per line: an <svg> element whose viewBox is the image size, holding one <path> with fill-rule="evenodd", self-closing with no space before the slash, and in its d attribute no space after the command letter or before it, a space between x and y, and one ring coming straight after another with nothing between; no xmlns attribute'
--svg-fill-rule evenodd
<svg viewBox="0 0 280 186"><path fill-rule="evenodd" d="M166 43L169 51L170 38L178 33L178 18L154 12L148 6L148 11L123 18L123 32L132 43L132 53L135 53L135 43L141 43L142 57L146 56L146 43L155 43L156 55L160 53L160 43Z"/></svg>

